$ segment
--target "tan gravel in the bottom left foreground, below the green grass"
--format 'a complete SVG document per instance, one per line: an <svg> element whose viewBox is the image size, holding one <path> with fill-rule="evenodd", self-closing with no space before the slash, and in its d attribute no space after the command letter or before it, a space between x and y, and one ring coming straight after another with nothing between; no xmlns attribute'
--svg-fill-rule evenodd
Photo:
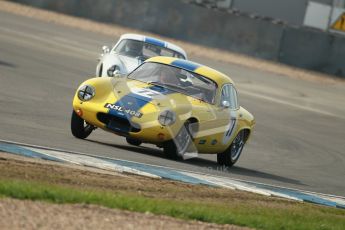
<svg viewBox="0 0 345 230"><path fill-rule="evenodd" d="M0 199L0 229L248 229L86 204Z"/></svg>

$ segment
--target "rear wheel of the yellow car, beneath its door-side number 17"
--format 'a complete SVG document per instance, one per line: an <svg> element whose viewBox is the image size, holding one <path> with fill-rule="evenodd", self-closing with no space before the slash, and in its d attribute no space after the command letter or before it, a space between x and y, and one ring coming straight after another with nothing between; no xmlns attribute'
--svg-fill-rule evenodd
<svg viewBox="0 0 345 230"><path fill-rule="evenodd" d="M240 158L245 143L245 133L240 131L229 148L217 154L217 162L220 165L233 166Z"/></svg>

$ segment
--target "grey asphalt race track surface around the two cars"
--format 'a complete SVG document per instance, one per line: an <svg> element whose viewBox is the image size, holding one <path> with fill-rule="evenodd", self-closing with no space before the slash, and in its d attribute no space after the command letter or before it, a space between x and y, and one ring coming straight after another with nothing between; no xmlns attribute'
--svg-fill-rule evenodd
<svg viewBox="0 0 345 230"><path fill-rule="evenodd" d="M345 84L325 84L191 56L230 76L257 125L239 162L216 155L183 162L155 146L133 147L96 130L70 133L72 98L94 76L104 44L118 38L0 11L0 139L204 172L314 192L345 195Z"/></svg>

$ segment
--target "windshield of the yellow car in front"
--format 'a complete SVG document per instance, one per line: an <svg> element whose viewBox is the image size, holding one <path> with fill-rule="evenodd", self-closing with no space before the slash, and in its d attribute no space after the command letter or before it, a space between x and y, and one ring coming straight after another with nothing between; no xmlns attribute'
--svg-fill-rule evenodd
<svg viewBox="0 0 345 230"><path fill-rule="evenodd" d="M210 104L215 102L217 84L214 81L174 66L147 62L134 70L128 78L157 85Z"/></svg>

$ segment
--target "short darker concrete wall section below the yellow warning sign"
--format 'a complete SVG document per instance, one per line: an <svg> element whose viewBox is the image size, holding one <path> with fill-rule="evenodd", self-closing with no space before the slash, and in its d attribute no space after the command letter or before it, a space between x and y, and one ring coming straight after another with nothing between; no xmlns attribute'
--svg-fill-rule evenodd
<svg viewBox="0 0 345 230"><path fill-rule="evenodd" d="M345 37L285 28L278 61L345 77Z"/></svg>

